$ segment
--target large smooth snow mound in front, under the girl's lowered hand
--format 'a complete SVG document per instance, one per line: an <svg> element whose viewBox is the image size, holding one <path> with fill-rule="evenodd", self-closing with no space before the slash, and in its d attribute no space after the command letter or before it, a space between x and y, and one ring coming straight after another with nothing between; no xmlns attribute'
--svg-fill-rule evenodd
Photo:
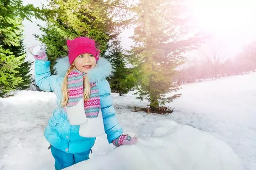
<svg viewBox="0 0 256 170"><path fill-rule="evenodd" d="M65 170L242 170L235 152L213 135L171 121L132 146L80 162Z"/></svg>

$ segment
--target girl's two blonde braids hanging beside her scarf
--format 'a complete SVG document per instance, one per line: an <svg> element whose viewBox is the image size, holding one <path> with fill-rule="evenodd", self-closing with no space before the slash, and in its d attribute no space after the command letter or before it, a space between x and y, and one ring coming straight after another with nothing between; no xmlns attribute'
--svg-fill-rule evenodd
<svg viewBox="0 0 256 170"><path fill-rule="evenodd" d="M68 103L68 98L69 98L69 91L68 91L68 75L69 73L71 73L73 70L75 69L75 65L71 64L71 66L69 66L66 75L64 77L63 83L62 83L62 95L63 95L63 99L60 102L60 105L62 107L65 107L66 104ZM90 92L91 92L91 84L89 82L89 78L87 76L87 74L84 76L84 101L89 100L90 97Z"/></svg>

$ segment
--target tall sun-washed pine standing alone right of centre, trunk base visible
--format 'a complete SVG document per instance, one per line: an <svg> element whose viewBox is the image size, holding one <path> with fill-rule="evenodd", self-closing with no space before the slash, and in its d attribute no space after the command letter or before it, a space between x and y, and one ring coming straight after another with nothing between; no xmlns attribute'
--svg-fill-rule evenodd
<svg viewBox="0 0 256 170"><path fill-rule="evenodd" d="M135 42L130 62L139 74L140 100L149 100L152 111L181 94L166 96L180 87L172 85L177 66L184 62L182 53L196 47L201 39L187 38L188 15L185 0L140 0L133 7L136 13Z"/></svg>

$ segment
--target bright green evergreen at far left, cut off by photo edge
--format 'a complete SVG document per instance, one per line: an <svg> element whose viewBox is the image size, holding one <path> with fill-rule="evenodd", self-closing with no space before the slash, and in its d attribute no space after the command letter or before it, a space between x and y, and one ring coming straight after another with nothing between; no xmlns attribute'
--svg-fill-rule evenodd
<svg viewBox="0 0 256 170"><path fill-rule="evenodd" d="M17 48L22 42L22 19L30 19L31 16L43 19L39 11L31 4L23 6L22 0L0 1L0 97L27 83L27 79L22 79L27 76L26 71L22 72L20 68L26 56Z"/></svg>

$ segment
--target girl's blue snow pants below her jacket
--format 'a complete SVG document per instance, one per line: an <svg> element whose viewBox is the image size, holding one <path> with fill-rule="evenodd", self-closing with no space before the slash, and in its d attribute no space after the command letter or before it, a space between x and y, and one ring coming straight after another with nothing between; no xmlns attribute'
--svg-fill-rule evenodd
<svg viewBox="0 0 256 170"><path fill-rule="evenodd" d="M81 153L66 153L61 151L53 146L50 148L53 158L55 159L55 170L61 170L68 166L74 165L81 161L89 159L89 151L81 152Z"/></svg>

